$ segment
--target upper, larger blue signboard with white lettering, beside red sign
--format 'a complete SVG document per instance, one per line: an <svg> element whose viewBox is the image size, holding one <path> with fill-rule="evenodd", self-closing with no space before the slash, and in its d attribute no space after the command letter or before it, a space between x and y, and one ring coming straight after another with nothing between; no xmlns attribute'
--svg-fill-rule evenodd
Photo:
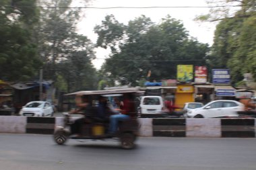
<svg viewBox="0 0 256 170"><path fill-rule="evenodd" d="M230 84L229 69L212 69L213 84Z"/></svg>

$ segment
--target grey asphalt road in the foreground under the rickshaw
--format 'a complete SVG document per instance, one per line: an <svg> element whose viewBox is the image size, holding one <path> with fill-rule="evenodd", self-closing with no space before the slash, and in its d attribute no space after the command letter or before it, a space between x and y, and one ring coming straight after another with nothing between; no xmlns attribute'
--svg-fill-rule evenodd
<svg viewBox="0 0 256 170"><path fill-rule="evenodd" d="M3 170L255 170L256 138L139 138L135 149L117 141L61 146L51 135L0 134Z"/></svg>

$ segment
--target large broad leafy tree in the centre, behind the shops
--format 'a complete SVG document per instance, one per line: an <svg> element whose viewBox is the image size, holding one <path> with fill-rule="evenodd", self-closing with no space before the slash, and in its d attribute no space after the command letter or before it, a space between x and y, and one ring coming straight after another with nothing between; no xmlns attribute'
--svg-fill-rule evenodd
<svg viewBox="0 0 256 170"><path fill-rule="evenodd" d="M115 17L111 17L115 21ZM111 29L116 28L115 26L106 27L113 22L106 20L102 23L104 26L94 28L100 38L104 39L100 41L110 42L110 45L115 46L119 44L119 50L110 54L102 67L105 72L110 73L111 79L125 77L132 85L138 85L141 80L146 79L148 71L152 72L150 81L161 81L176 79L177 64L206 64L207 45L189 38L183 24L170 16L162 19L158 25L143 15L130 21L128 26L115 22L122 26L118 32L123 34L119 34L118 38L113 36L117 35L116 30Z"/></svg>

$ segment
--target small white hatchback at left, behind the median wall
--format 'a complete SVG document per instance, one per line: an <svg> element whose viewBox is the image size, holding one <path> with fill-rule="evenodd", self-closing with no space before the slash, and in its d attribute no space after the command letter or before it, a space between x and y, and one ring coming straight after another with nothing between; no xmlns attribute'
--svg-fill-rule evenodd
<svg viewBox="0 0 256 170"><path fill-rule="evenodd" d="M30 101L20 110L20 116L53 116L53 106L48 101Z"/></svg>

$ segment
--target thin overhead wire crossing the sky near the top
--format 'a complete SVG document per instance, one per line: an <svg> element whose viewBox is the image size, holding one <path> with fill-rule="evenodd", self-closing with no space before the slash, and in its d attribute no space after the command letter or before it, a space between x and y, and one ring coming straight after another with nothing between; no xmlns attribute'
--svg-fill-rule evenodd
<svg viewBox="0 0 256 170"><path fill-rule="evenodd" d="M11 6L0 5L0 7L18 8L73 8L73 9L153 9L153 8L215 8L215 7L249 7L252 5L216 5L216 6L151 6L151 7L60 7L60 6Z"/></svg>

